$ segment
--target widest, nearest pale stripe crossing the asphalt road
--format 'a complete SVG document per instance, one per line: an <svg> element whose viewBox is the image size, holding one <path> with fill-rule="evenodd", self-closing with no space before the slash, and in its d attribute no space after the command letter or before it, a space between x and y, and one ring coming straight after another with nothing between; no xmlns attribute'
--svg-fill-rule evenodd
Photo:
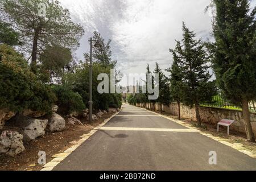
<svg viewBox="0 0 256 182"><path fill-rule="evenodd" d="M196 129L155 129L155 128L139 128L139 127L101 127L100 130L118 130L118 131L167 131L177 133L196 133L200 132Z"/></svg>

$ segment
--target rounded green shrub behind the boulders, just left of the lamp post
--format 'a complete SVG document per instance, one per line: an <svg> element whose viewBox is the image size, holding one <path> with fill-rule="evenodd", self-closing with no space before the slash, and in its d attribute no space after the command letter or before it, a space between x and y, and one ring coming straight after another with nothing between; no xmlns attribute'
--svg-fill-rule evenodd
<svg viewBox="0 0 256 182"><path fill-rule="evenodd" d="M73 92L67 85L53 85L52 90L57 97L56 104L60 113L71 114L74 111L81 113L85 109L81 95Z"/></svg>

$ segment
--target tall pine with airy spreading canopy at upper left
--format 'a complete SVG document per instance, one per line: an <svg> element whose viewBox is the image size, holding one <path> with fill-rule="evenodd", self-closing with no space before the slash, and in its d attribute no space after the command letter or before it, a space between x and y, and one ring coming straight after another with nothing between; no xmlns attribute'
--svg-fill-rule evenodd
<svg viewBox="0 0 256 182"><path fill-rule="evenodd" d="M40 14L39 5L46 7ZM84 34L80 24L73 23L70 13L63 9L59 1L51 0L3 0L1 22L9 24L19 33L21 48L31 55L31 69L36 72L38 54L47 46L57 44L65 48L75 48Z"/></svg>

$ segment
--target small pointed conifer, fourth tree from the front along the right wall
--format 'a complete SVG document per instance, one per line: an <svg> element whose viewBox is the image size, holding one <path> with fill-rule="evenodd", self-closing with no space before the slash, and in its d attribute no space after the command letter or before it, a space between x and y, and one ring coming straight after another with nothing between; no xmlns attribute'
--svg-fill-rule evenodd
<svg viewBox="0 0 256 182"><path fill-rule="evenodd" d="M159 64L155 63L155 65L156 67L154 73L159 75L159 97L156 102L159 102L161 104L162 111L162 104L170 104L170 87L168 84L168 78L164 75L162 69L159 67Z"/></svg>

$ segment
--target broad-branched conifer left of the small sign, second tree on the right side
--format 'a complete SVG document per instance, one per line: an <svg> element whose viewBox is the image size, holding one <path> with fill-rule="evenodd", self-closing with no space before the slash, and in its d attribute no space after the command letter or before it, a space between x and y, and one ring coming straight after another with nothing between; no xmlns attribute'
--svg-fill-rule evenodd
<svg viewBox="0 0 256 182"><path fill-rule="evenodd" d="M182 45L177 42L176 59L177 64L183 75L183 104L193 107L196 110L196 119L201 125L201 117L199 106L204 102L212 101L212 97L216 95L216 87L214 81L210 81L209 57L205 51L205 46L201 39L196 40L193 31L185 26L183 22L183 39Z"/></svg>

